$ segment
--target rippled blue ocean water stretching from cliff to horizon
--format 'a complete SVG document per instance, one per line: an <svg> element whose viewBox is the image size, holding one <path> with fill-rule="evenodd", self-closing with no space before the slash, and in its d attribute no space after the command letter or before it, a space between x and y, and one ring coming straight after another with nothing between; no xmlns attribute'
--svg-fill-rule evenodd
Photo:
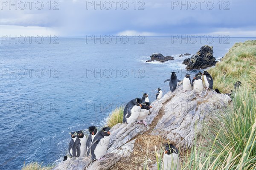
<svg viewBox="0 0 256 170"><path fill-rule="evenodd" d="M58 163L67 154L70 130L101 126L112 110L142 92L155 99L156 90L172 71L183 79L188 73L180 54L195 54L202 45L213 46L220 59L236 42L255 40L215 38L195 43L172 37L145 37L143 44L129 37L121 41L61 37L58 44L26 41L1 42L0 48L0 169L20 169L23 162ZM173 56L165 63L145 63L151 54ZM196 71L190 73L195 74Z"/></svg>

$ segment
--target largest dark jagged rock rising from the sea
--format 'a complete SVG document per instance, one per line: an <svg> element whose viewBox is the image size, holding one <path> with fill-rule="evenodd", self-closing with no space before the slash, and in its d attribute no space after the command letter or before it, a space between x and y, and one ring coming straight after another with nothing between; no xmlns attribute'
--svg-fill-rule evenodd
<svg viewBox="0 0 256 170"><path fill-rule="evenodd" d="M216 64L216 59L213 57L212 47L204 45L191 58L184 59L183 64L186 64L187 70L204 69Z"/></svg>

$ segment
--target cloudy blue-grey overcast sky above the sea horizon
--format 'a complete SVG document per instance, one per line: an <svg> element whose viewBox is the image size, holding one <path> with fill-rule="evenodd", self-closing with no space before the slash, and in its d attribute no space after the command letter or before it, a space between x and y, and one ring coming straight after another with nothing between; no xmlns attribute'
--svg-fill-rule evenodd
<svg viewBox="0 0 256 170"><path fill-rule="evenodd" d="M9 2L1 0L1 35L256 37L255 0Z"/></svg>

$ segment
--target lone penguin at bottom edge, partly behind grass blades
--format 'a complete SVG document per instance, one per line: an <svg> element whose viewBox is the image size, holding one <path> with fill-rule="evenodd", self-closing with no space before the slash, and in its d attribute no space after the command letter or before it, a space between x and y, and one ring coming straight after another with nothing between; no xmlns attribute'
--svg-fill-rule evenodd
<svg viewBox="0 0 256 170"><path fill-rule="evenodd" d="M179 150L172 144L166 144L163 155L163 170L181 170Z"/></svg>

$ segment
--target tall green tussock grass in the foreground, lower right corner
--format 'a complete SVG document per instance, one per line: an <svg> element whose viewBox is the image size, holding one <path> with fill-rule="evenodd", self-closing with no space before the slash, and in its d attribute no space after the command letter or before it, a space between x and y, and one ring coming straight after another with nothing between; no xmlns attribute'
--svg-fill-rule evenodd
<svg viewBox="0 0 256 170"><path fill-rule="evenodd" d="M241 88L233 97L233 106L216 113L204 139L197 140L186 155L184 170L256 169L256 94Z"/></svg>

